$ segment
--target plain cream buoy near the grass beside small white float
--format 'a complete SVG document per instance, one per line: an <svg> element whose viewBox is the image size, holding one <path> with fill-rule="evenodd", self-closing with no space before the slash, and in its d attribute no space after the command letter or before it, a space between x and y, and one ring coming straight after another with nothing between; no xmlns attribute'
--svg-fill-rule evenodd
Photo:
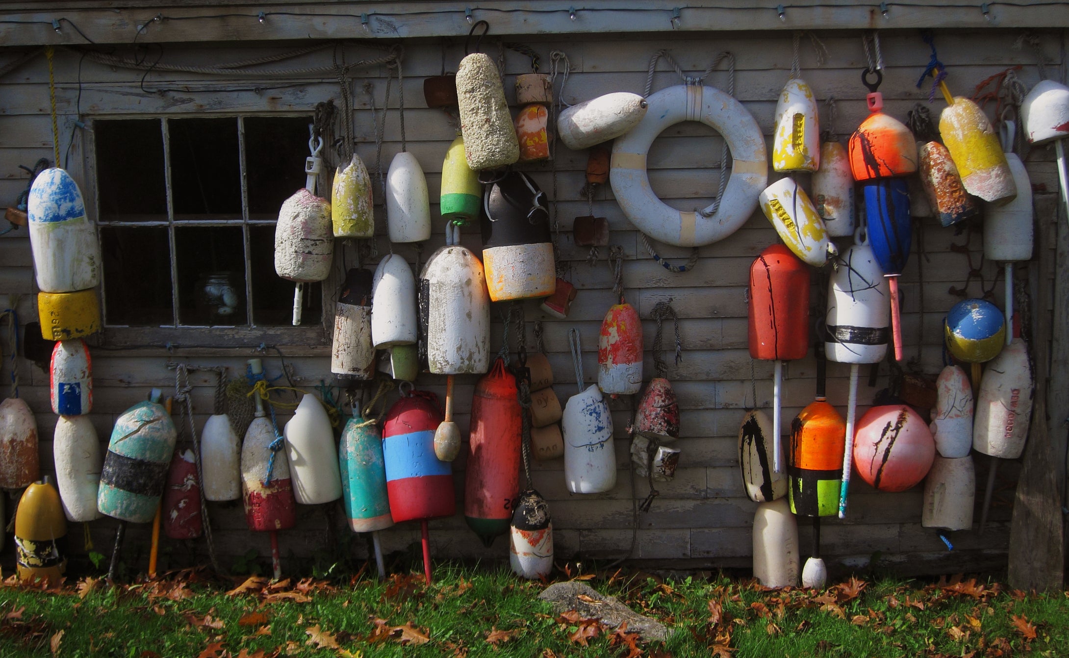
<svg viewBox="0 0 1069 658"><path fill-rule="evenodd" d="M799 524L786 498L763 502L754 515L754 578L765 588L799 584Z"/></svg>

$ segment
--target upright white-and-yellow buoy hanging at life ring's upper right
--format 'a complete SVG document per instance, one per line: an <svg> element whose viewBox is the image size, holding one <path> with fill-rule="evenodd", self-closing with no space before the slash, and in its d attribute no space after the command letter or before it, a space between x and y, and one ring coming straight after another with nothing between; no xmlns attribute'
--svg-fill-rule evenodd
<svg viewBox="0 0 1069 658"><path fill-rule="evenodd" d="M773 171L820 169L820 120L812 90L802 78L791 78L779 92L776 127L772 132Z"/></svg>

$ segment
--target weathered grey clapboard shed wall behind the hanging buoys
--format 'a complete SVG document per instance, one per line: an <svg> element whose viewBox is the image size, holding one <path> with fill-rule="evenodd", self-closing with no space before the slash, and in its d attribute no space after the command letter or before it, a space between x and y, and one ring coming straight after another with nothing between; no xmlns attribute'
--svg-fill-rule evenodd
<svg viewBox="0 0 1069 658"><path fill-rule="evenodd" d="M832 26L828 26L832 27ZM532 30L537 32L538 30ZM948 84L958 93L971 94L980 80L1021 65L1018 72L1028 87L1039 77L1036 52L1028 47L1019 48L1014 43L1021 35L1016 29L989 29L983 31L936 31L940 59L949 68ZM1065 35L1059 31L1037 32L1040 47L1048 58L1048 75L1059 78L1063 74ZM881 32L883 59L886 64L881 91L886 99L886 111L904 120L913 104L926 101L928 84L915 87L929 51L919 35L912 30ZM819 37L827 47L830 57L817 66L808 40L803 40L801 62L803 77L814 88L820 99L834 96L838 108L835 127L845 140L867 114L866 90L859 83L861 70L866 64L858 31L826 30ZM680 34L586 34L555 38L552 35L512 35L509 41L522 42L534 48L544 63L549 53L567 53L571 75L563 92L567 103L577 103L613 91L641 93L646 82L650 57L659 49L668 49L683 69L700 72L721 51L729 50L737 58L735 96L754 114L768 137L773 128L773 112L779 91L791 67L791 36L789 32L747 33L708 32ZM445 48L448 69L463 54L463 38L451 38ZM248 60L282 52L305 45L307 42L278 43L204 43L168 44L160 62L217 64ZM455 124L450 118L428 109L422 97L422 78L438 75L441 70L443 46L436 40L409 40L404 42L404 118L407 150L414 153L427 172L432 202L436 201L441 160L449 142L455 135ZM359 42L344 46L346 61L372 57L379 51L367 48ZM484 42L484 49L496 57L496 42ZM20 57L24 50L0 51L0 61ZM133 59L133 51L120 48L117 54ZM143 54L143 53L142 53ZM155 57L155 54L153 54ZM512 96L512 81L518 73L528 69L527 60L506 51L506 89ZM274 68L329 65L331 49L303 56L296 60L273 64ZM654 77L654 90L678 84L675 73L662 64L662 72ZM144 76L142 70L107 66L83 59L82 52L60 48L55 60L57 111L61 151L69 150L69 170L92 195L93 172L89 157L88 134L74 128L80 116L92 127L97 118L117 116L177 116L233 115L237 113L310 113L314 105L329 98L340 99L338 81L330 76L308 79L291 76L279 80L267 76L206 76L188 73L161 73L153 70ZM355 70L350 81L354 110L352 124L357 152L375 166L375 134L370 99L382 108L388 103L382 166L400 151L401 138L398 115L397 80L391 97L384 100L386 78L391 75L385 66ZM142 83L142 76L144 80ZM713 73L707 84L727 85L723 67ZM558 79L558 89L560 80ZM936 99L934 113L942 107ZM514 108L515 109L515 108ZM826 108L822 107L822 112ZM382 115L378 115L379 120ZM826 114L824 115L826 119ZM71 136L74 136L71 143ZM686 123L666 130L650 151L650 178L659 195L681 208L701 207L716 188L718 176L719 140L709 128ZM18 164L32 166L40 157L51 158L51 125L49 119L48 72L44 57L37 57L0 78L0 205L12 205L27 183L26 173ZM304 157L304 154L300 155ZM331 155L331 159L334 156ZM1050 194L1057 190L1057 175L1051 148L1032 151L1026 159L1037 205L1047 208L1037 217L1037 253L1054 248L1054 221ZM541 318L545 326L545 347L554 365L557 383L555 389L563 402L575 392L567 331L578 328L584 345L584 365L587 381L597 375L597 344L601 318L614 301L613 276L602 250L601 260L593 266L587 264L586 249L571 241L570 229L575 216L587 215L587 201L579 190L584 185L586 153L572 153L564 147L557 151L553 164L524 168L551 197L556 190L557 214L561 229L561 254L571 266L571 280L579 288L578 298L567 320L552 318L526 304L526 317ZM136 162L130 163L136 167ZM294 161L300 167L299 159ZM553 170L556 169L556 185ZM770 181L778 177L772 174ZM807 176L800 176L805 181ZM1043 193L1047 200L1043 201ZM381 199L376 195L376 203ZM379 253L388 251L385 236L385 218L378 213L377 247ZM435 233L423 250L429 254L444 242L444 225L437 218L437 205L432 203ZM739 472L737 443L738 429L744 409L753 406L752 386L756 386L757 406L770 407L772 402L769 362L752 363L746 345L746 283L750 263L757 253L777 240L774 230L756 213L747 223L729 238L700 249L700 258L693 271L675 275L657 265L644 250L638 234L620 212L609 189L601 189L593 201L593 214L605 216L611 228L610 244L623 248L623 281L628 299L644 318L654 303L671 300L682 316L681 333L683 360L679 365L669 364L669 378L682 406L682 435L678 446L683 451L676 480L662 484L660 498L650 513L636 511L636 505L647 494L644 479L633 477L628 457L626 426L632 401L613 403L616 427L616 451L619 477L616 488L607 494L569 495L564 487L562 463L537 463L534 486L549 500L554 519L556 550L559 558L625 558L653 561L663 566L745 566L749 563L750 526L756 504L743 491ZM962 287L969 275L969 263L980 263L982 236L976 230L955 235L951 229L942 229L931 219L923 220L923 230L916 232L913 256L901 279L903 293L903 334L905 352L911 363L923 372L934 375L942 366L942 319L950 306L960 299L949 292L951 286ZM463 235L466 246L477 249L480 239L477 230L468 228ZM967 248L967 253L961 250ZM682 262L688 250L657 246L666 257ZM341 249L341 247L339 247ZM409 248L399 248L409 262L416 253ZM353 252L351 252L353 253ZM340 265L336 266L340 269ZM923 269L923 273L921 273ZM980 268L982 284L991 286L996 275L992 263ZM1050 277L1050 271L1038 271L1035 261L1018 269L1022 280L1034 285L1037 277ZM814 299L818 298L815 276ZM1033 289L1035 289L1033 287ZM17 299L19 323L35 318L35 286L29 240L25 230L12 231L0 237L0 301L3 295ZM970 296L982 294L981 282L974 277L967 287ZM109 293L110 294L110 293ZM1002 286L994 287L994 295L1002 304ZM1038 300L1049 304L1050 300ZM498 309L495 316L495 348L500 344ZM647 320L646 373L653 373L651 352L654 324ZM6 333L3 333L6 335ZM162 333L160 335L164 335ZM227 339L223 329L210 332L172 332L170 339L151 340L152 335L136 346L118 345L109 332L95 341L92 348L95 402L91 418L106 441L115 417L135 402L142 400L150 387L173 387L173 371L169 361L184 361L191 365L227 365L232 375L244 372L245 359L263 356L272 374L280 371L278 354L272 349L257 351L261 341L249 341L246 346L224 349L217 347L189 347L188 345L216 345ZM528 326L528 345L533 335ZM214 340L214 338L218 340ZM276 345L292 364L293 379L298 386L311 390L321 379L329 376L329 334L324 331L315 345L295 344L286 341L285 330L275 331L267 340ZM176 347L168 350L162 344L170 340ZM307 341L305 341L307 343ZM151 346L156 345L156 346ZM42 470L52 468L51 433L56 419L48 404L48 373L45 364L16 359L21 377L21 395L36 412L41 430ZM750 372L756 385L752 385ZM863 371L864 372L864 371ZM888 364L881 364L874 387L863 383L859 393L862 409L870 404L872 395L887 386ZM4 359L0 380L6 382L11 362ZM865 373L867 374L867 373ZM848 369L831 364L828 369L828 398L845 414ZM785 419L792 418L811 401L814 395L815 361L811 356L790 363L785 369ZM466 433L470 397L475 377L458 380L458 422ZM198 430L213 410L214 375L193 373L192 392ZM422 376L420 388L444 393L444 378ZM6 391L5 391L6 393ZM859 412L861 412L859 411ZM280 417L280 421L284 416ZM987 460L977 458L978 482L985 481ZM458 497L463 494L463 457L454 464ZM924 573L951 568L951 565L1004 563L1009 533L1008 503L1012 496L1014 469L1004 468L1000 480L1002 504L992 512L994 521L982 536L976 532L955 533L951 540L955 552L948 553L933 530L920 527L921 487L902 494L882 494L854 479L849 518L846 521L827 519L823 532L825 557L833 564L864 566L871 557L879 554L880 564L903 573ZM982 486L982 485L981 485ZM979 501L979 497L977 499ZM9 510L12 505L9 504ZM341 524L337 504L312 507L301 514L297 529L281 534L283 553L298 559L293 566L306 564L316 554L327 554L335 548L338 537L347 530ZM250 535L245 530L241 503L212 504L217 549L229 565L232 558L254 547L261 555L267 554L267 538ZM90 526L93 542L99 550L110 546L112 523L105 519ZM503 538L484 548L464 523L461 515L434 521L431 524L433 554L436 558L503 559L508 554ZM82 531L72 529L72 549L82 552ZM146 528L131 529L127 539L128 560L141 559L148 552ZM387 550L402 550L418 542L418 526L405 523L384 532ZM803 522L802 545L808 546L808 528ZM203 559L203 540L193 545L168 544L175 559L188 551ZM366 546L357 542L355 554L366 554ZM807 554L807 549L803 554ZM962 554L964 553L964 555ZM966 557L967 555L967 557ZM12 547L4 549L3 561L13 560ZM141 563L143 566L143 562Z"/></svg>

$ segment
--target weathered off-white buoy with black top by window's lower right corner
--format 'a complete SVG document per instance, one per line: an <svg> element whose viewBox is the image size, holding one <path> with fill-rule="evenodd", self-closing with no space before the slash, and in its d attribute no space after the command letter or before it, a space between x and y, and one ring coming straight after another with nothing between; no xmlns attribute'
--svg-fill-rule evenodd
<svg viewBox="0 0 1069 658"><path fill-rule="evenodd" d="M371 379L375 365L371 335L371 271L354 267L345 273L335 310L330 372L337 380L351 383Z"/></svg>

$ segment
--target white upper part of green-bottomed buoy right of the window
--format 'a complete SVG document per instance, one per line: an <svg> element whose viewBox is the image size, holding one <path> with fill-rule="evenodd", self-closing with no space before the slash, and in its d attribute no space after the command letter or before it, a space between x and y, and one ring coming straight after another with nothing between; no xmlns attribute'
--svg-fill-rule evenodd
<svg viewBox="0 0 1069 658"><path fill-rule="evenodd" d="M376 349L412 345L419 331L416 315L416 278L401 256L390 253L378 262L371 296L371 342Z"/></svg>

